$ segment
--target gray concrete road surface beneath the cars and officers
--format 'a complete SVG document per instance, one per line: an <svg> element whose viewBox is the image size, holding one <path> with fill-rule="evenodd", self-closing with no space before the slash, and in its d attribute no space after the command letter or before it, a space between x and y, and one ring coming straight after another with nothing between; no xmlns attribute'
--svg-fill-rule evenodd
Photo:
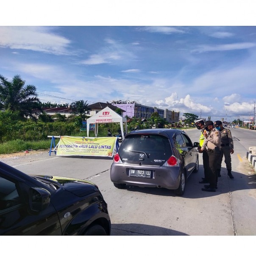
<svg viewBox="0 0 256 256"><path fill-rule="evenodd" d="M198 141L199 130L186 132L192 142ZM256 174L246 159L248 147L256 146L256 131L232 128L231 132L234 179L227 176L223 159L217 192L201 191L200 154L199 172L189 177L182 197L168 189L115 188L110 181L111 158L57 157L38 152L0 161L27 174L75 177L97 184L108 203L112 236L256 235Z"/></svg>

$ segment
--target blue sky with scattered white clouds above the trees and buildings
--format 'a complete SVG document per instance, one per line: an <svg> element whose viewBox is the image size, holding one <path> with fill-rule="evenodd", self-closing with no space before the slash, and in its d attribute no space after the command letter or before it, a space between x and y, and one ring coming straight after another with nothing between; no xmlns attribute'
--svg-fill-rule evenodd
<svg viewBox="0 0 256 256"><path fill-rule="evenodd" d="M7 25L0 74L21 75L42 102L135 100L211 120L253 116L256 26Z"/></svg>

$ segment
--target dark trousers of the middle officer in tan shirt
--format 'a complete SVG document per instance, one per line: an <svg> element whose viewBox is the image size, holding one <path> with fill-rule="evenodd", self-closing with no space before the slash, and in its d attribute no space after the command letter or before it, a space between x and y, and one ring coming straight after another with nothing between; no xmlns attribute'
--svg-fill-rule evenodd
<svg viewBox="0 0 256 256"><path fill-rule="evenodd" d="M209 157L209 187L215 189L218 182L217 161L220 157L220 153L216 154L215 150L207 150L207 153Z"/></svg>

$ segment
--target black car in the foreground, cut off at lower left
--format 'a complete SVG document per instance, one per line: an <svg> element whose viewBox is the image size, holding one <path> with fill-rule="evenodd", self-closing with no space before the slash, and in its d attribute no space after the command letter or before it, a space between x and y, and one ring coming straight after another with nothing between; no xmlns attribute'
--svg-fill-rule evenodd
<svg viewBox="0 0 256 256"><path fill-rule="evenodd" d="M110 235L108 206L92 182L30 176L0 161L0 235Z"/></svg>

